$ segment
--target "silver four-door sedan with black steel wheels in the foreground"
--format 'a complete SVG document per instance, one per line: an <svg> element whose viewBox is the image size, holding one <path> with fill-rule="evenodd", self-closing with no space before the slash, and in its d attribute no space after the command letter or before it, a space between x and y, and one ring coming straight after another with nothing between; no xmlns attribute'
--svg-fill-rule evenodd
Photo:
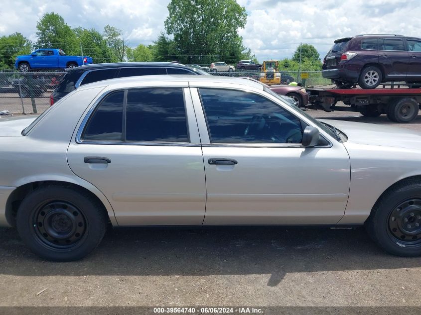
<svg viewBox="0 0 421 315"><path fill-rule="evenodd" d="M259 83L153 76L84 85L0 119L0 225L50 260L108 224L352 226L421 255L421 135L318 121Z"/></svg>

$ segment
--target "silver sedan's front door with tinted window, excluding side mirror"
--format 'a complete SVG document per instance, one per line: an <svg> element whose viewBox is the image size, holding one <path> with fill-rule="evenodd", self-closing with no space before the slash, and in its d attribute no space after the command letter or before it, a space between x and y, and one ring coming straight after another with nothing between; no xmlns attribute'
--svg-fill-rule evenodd
<svg viewBox="0 0 421 315"><path fill-rule="evenodd" d="M340 142L322 138L317 147L303 147L305 125L293 109L258 94L199 88L192 96L206 173L204 224L341 219L350 161Z"/></svg>

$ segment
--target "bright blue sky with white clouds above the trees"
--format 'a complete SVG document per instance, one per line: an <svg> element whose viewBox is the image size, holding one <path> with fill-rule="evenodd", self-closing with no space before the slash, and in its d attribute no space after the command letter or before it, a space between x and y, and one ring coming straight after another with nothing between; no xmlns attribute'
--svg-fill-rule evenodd
<svg viewBox="0 0 421 315"><path fill-rule="evenodd" d="M300 42L323 58L333 40L357 34L421 37L421 0L237 0L248 18L239 30L259 61L291 57ZM21 32L36 40L36 21L54 11L71 27L107 24L123 30L129 46L151 44L164 30L169 0L14 0L0 9L0 36Z"/></svg>

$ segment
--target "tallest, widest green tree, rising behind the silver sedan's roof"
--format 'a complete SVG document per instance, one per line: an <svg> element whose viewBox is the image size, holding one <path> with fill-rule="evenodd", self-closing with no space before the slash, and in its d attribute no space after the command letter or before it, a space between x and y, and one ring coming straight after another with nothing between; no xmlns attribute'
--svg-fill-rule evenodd
<svg viewBox="0 0 421 315"><path fill-rule="evenodd" d="M238 29L244 28L247 13L236 0L171 0L167 8L165 30L175 45L166 44L180 62L236 63L242 57L245 48Z"/></svg>

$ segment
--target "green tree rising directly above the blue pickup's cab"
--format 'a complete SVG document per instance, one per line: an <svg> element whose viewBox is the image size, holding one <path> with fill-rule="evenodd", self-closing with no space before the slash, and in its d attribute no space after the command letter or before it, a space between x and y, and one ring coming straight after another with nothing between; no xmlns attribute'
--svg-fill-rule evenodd
<svg viewBox="0 0 421 315"><path fill-rule="evenodd" d="M68 55L79 55L76 34L57 13L44 13L36 23L38 40L35 48L59 48Z"/></svg>

